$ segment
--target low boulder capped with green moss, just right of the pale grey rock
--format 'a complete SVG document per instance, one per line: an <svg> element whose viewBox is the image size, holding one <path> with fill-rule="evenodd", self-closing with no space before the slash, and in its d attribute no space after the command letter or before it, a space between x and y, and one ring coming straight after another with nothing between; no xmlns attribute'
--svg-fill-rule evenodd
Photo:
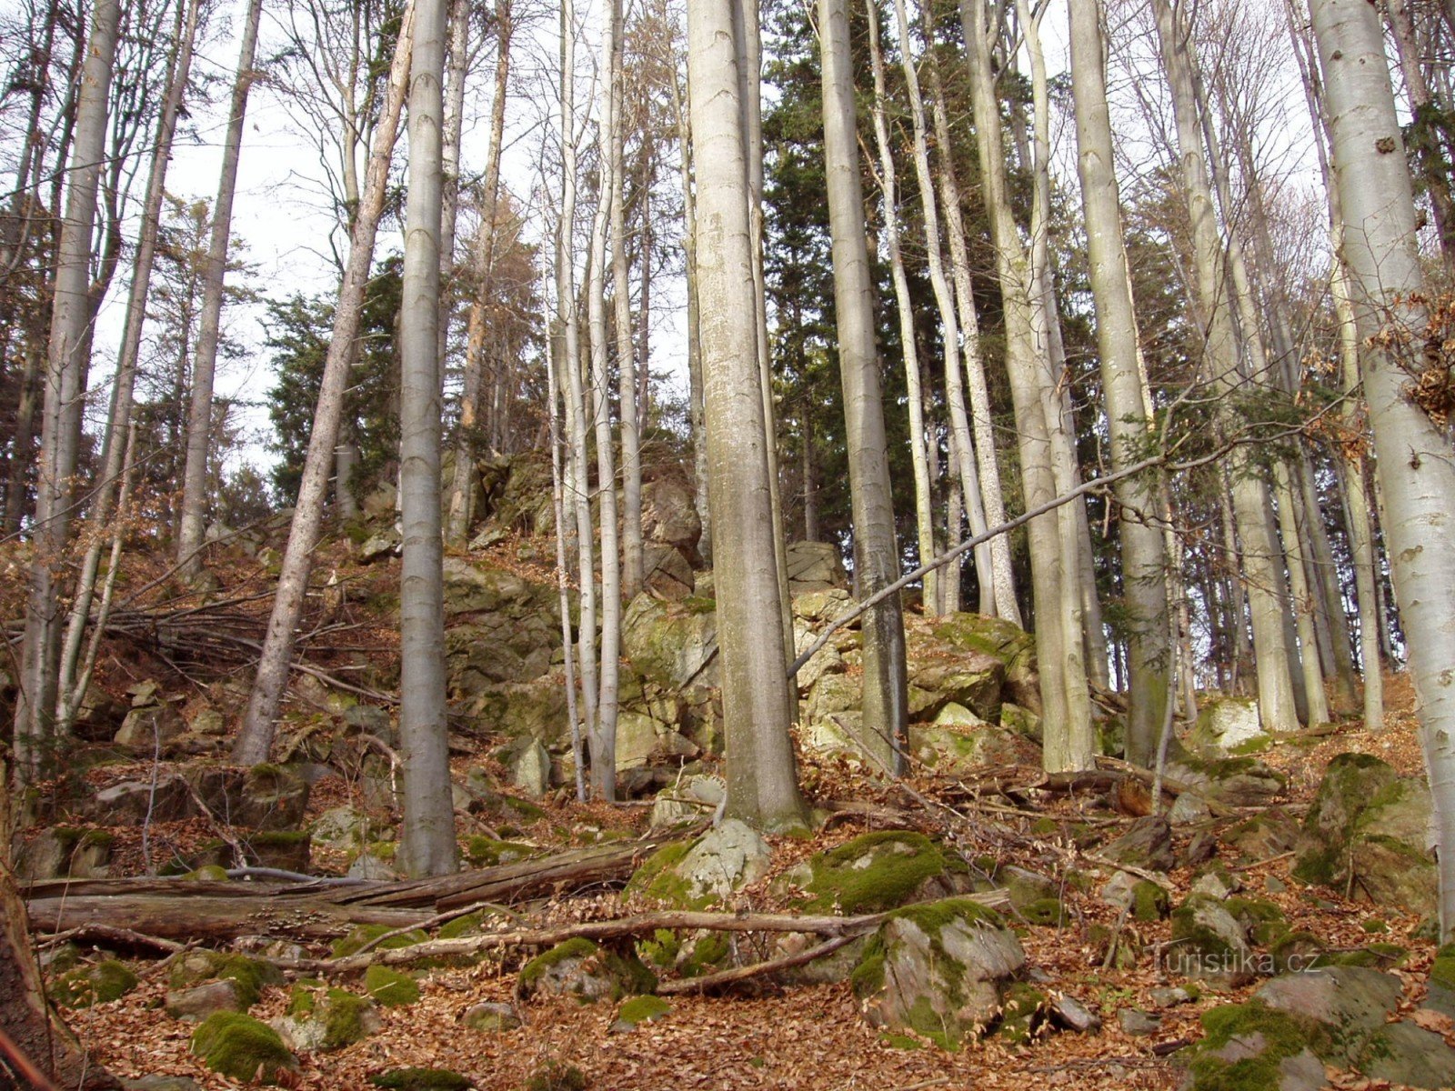
<svg viewBox="0 0 1455 1091"><path fill-rule="evenodd" d="M802 890L806 912L876 914L944 898L954 883L944 855L924 834L885 829L810 857L784 873Z"/></svg>

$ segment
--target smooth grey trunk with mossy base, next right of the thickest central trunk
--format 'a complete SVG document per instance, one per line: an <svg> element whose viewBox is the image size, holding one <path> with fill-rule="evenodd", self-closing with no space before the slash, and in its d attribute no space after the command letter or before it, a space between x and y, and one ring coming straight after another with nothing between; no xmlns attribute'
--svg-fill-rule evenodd
<svg viewBox="0 0 1455 1091"><path fill-rule="evenodd" d="M870 23L873 19L874 13L870 12ZM821 0L819 41L824 58L824 169L834 247L834 308L854 519L854 576L858 594L867 596L899 578L899 544L889 483L883 396L879 388L864 195L858 182L848 0ZM893 215L890 207L888 217ZM950 367L957 367L953 345L946 351L952 358ZM805 426L805 445L809 439L810 433ZM908 765L909 684L899 595L890 595L866 615L860 640L864 658L860 743L885 770L904 775Z"/></svg>

